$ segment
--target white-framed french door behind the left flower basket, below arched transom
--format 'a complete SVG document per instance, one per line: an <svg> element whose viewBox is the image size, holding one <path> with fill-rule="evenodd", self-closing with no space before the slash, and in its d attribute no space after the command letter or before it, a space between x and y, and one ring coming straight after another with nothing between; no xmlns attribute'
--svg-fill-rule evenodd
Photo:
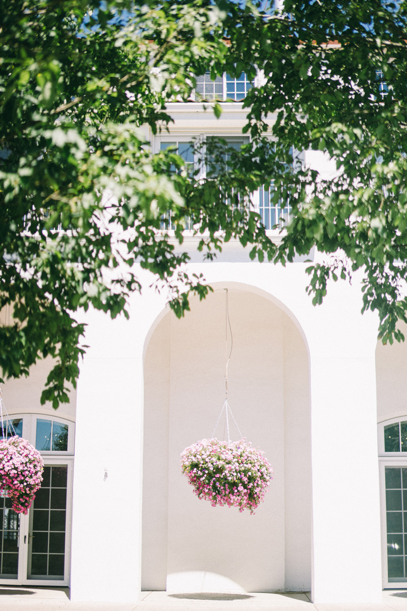
<svg viewBox="0 0 407 611"><path fill-rule="evenodd" d="M47 459L29 513L0 497L0 584L68 585L73 461Z"/></svg>

